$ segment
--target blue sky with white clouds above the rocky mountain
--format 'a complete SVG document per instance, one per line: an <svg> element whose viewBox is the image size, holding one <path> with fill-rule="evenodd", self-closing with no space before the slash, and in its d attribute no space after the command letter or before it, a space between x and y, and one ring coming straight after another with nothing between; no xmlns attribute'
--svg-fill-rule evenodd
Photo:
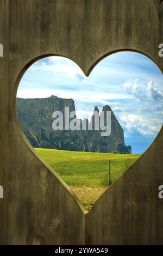
<svg viewBox="0 0 163 256"><path fill-rule="evenodd" d="M126 145L142 154L163 119L163 80L158 66L143 54L118 52L105 57L86 77L65 57L35 62L23 75L17 97L73 99L78 118L90 118L95 106L109 105L120 122Z"/></svg>

